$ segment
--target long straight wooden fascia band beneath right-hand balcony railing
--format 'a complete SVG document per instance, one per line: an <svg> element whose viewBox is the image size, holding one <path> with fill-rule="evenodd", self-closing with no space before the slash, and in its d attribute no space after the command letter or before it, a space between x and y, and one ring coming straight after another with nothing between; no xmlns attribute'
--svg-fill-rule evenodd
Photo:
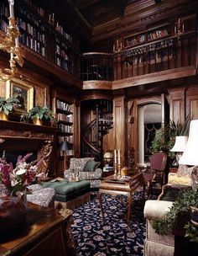
<svg viewBox="0 0 198 256"><path fill-rule="evenodd" d="M195 66L180 67L171 70L154 72L138 77L128 77L112 82L112 89L128 88L140 84L155 83L180 77L195 76Z"/></svg>

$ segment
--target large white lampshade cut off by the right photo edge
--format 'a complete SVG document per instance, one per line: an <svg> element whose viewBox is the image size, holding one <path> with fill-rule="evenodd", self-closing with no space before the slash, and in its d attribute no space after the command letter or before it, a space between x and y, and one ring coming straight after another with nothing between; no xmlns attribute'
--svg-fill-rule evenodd
<svg viewBox="0 0 198 256"><path fill-rule="evenodd" d="M180 164L198 165L198 120L190 121L190 132L185 152L180 157Z"/></svg>

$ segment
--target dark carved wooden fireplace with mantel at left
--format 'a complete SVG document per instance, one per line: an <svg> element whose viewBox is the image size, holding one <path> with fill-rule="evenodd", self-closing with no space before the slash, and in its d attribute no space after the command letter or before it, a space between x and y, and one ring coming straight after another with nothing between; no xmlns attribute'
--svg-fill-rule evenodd
<svg viewBox="0 0 198 256"><path fill-rule="evenodd" d="M43 159L40 171L55 176L55 131L50 126L31 125L23 122L0 120L0 155L16 163L19 155L32 152L29 161Z"/></svg>

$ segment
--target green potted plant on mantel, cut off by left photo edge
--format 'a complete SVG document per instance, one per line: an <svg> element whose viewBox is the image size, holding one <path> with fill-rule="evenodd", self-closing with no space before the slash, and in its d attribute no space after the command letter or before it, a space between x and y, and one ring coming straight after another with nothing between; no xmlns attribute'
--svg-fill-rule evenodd
<svg viewBox="0 0 198 256"><path fill-rule="evenodd" d="M8 115L13 111L13 104L17 104L18 99L10 97L8 99L0 97L0 120L8 120Z"/></svg>

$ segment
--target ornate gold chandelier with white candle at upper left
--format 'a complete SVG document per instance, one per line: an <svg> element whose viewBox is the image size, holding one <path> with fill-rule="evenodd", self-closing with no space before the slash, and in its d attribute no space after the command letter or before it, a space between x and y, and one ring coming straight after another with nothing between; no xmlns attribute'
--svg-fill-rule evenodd
<svg viewBox="0 0 198 256"><path fill-rule="evenodd" d="M0 69L0 80L8 81L14 77L14 74L18 72L16 63L23 67L23 58L20 54L20 49L18 45L18 36L20 35L16 20L14 18L13 4L14 0L8 0L9 3L9 24L6 36L3 43L0 44L0 50L6 51L10 54L9 67Z"/></svg>

